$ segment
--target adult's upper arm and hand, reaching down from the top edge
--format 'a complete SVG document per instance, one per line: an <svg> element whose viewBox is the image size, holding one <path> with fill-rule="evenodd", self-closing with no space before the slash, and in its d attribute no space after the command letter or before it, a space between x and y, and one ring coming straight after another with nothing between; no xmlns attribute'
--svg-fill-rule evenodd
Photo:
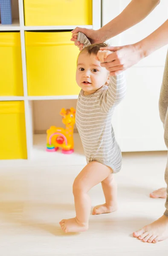
<svg viewBox="0 0 168 256"><path fill-rule="evenodd" d="M154 10L159 2L160 0L132 0L117 17L101 29L93 30L76 27L72 30L71 41L76 41L76 33L80 31L89 38L91 44L102 43L139 23ZM80 49L83 48L83 44L79 41L75 42L75 45Z"/></svg>

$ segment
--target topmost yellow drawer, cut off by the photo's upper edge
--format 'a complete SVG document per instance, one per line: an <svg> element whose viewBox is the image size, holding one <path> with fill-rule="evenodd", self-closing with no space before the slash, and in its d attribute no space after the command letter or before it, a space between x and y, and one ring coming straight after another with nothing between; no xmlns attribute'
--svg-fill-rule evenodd
<svg viewBox="0 0 168 256"><path fill-rule="evenodd" d="M92 25L92 0L24 0L26 26Z"/></svg>

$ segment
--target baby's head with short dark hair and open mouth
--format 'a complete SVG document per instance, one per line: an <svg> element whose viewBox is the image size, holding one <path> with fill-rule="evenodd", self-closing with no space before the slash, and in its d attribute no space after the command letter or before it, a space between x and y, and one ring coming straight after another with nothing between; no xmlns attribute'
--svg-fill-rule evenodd
<svg viewBox="0 0 168 256"><path fill-rule="evenodd" d="M76 82L85 94L92 94L104 85L109 84L109 71L101 67L100 61L96 58L101 47L107 44L91 44L78 55Z"/></svg>

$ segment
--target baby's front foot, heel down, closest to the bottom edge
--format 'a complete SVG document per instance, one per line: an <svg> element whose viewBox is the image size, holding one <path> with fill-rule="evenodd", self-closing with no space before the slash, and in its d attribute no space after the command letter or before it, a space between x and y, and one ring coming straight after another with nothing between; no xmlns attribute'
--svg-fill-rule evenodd
<svg viewBox="0 0 168 256"><path fill-rule="evenodd" d="M60 221L61 229L65 232L82 232L88 229L88 225L79 224L76 218Z"/></svg>

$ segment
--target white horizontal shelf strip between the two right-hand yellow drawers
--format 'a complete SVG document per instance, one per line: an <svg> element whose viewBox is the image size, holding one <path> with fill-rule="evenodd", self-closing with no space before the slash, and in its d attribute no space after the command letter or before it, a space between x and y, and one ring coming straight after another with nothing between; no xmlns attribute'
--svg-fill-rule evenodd
<svg viewBox="0 0 168 256"><path fill-rule="evenodd" d="M24 26L24 30L73 30L75 27L92 29L93 25L70 25L70 26Z"/></svg>

